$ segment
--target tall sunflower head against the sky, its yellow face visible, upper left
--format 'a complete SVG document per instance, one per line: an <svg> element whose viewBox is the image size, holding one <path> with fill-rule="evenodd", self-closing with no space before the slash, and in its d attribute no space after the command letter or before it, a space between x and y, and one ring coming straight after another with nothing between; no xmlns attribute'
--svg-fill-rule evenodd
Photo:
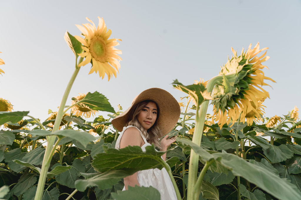
<svg viewBox="0 0 301 200"><path fill-rule="evenodd" d="M88 18L86 18L91 24L82 24L76 25L80 31L82 31L82 35L85 38L80 36L74 36L80 43L83 44L82 49L83 53L79 53L78 55L82 58L85 58L84 61L79 63L79 67L84 66L91 62L92 60L92 68L89 74L95 72L99 73L99 77L104 78L105 73L108 76L108 81L113 76L116 77L116 72L120 68L120 63L122 59L117 54L122 54L122 52L118 49L115 49L114 46L119 45L117 40L120 39L109 39L112 31L109 29L107 31L107 26L104 23L104 19L98 17L98 27L96 28L95 24Z"/></svg>

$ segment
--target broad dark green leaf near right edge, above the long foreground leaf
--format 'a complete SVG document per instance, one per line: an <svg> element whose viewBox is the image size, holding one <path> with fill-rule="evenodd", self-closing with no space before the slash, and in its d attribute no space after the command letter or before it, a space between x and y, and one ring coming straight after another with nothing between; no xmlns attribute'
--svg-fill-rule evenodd
<svg viewBox="0 0 301 200"><path fill-rule="evenodd" d="M263 153L271 161L271 163L280 163L293 156L293 151L286 145L275 146L271 145L267 149L263 149Z"/></svg>

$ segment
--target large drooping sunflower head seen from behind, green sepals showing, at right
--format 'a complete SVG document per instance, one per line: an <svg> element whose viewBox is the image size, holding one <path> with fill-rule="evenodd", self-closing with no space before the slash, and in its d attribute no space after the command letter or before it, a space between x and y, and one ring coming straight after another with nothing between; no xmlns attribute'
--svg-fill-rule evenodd
<svg viewBox="0 0 301 200"><path fill-rule="evenodd" d="M256 56L268 48L259 49L259 43L254 49L251 49L251 46L252 44L245 52L243 49L240 56L231 48L234 56L228 58L227 63L223 65L219 73L221 81L213 88L213 110L220 127L225 123L237 121L241 112L241 118L251 111L255 112L251 102L258 108L258 99L269 97L268 92L262 88L263 85L268 85L264 81L275 82L264 76L262 71L266 66L261 63L269 58L265 56L266 52L260 57Z"/></svg>

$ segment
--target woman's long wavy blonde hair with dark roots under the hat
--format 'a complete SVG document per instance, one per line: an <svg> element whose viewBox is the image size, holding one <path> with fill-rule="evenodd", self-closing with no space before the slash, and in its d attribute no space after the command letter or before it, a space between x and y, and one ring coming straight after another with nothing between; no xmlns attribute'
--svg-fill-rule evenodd
<svg viewBox="0 0 301 200"><path fill-rule="evenodd" d="M149 128L148 130L145 130L141 124L139 123L137 119L137 115L141 112L141 110L146 106L147 103L154 102L152 100L145 100L137 103L130 111L129 111L129 121L127 123L127 126L132 125L137 127L139 130L141 130L142 134L146 138L147 142L153 143L155 146L160 148L160 142L159 137L161 136L160 127L157 124L157 120L155 121L154 125ZM154 102L155 103L155 102ZM156 103L157 106L157 103ZM157 106L157 118L159 117L160 110Z"/></svg>

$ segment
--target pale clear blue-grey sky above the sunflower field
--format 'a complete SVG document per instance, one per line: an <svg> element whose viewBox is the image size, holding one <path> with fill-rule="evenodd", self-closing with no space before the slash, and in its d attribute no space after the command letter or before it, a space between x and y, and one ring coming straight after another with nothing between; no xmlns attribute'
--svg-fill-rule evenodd
<svg viewBox="0 0 301 200"><path fill-rule="evenodd" d="M241 52L257 42L269 47L264 62L270 93L266 117L287 114L300 103L301 1L0 1L0 97L14 111L30 111L44 121L48 109L57 111L74 71L73 52L64 40L66 30L81 32L75 24L98 24L103 17L111 38L120 38L123 61L117 78L107 81L82 67L67 105L78 93L98 91L115 110L124 110L141 91L158 87L180 101L187 96L172 88L218 75L231 57L231 46ZM212 111L208 110L208 113ZM109 113L105 113L109 114Z"/></svg>

